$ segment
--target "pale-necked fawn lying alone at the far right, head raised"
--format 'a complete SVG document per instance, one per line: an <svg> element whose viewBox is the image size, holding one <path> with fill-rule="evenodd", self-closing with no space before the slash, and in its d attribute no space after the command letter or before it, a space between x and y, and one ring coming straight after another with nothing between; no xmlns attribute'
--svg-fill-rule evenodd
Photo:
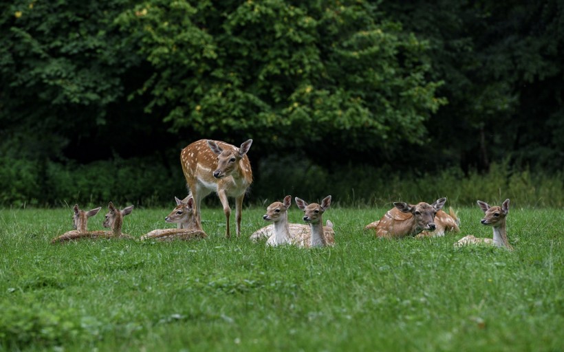
<svg viewBox="0 0 564 352"><path fill-rule="evenodd" d="M484 218L481 219L480 222L492 227L493 239L477 238L469 234L468 236L459 239L459 241L455 243L455 247L486 243L488 245L495 245L497 247L505 247L508 250L513 250L507 240L506 231L506 217L509 212L509 199L506 199L501 206L489 206L489 204L484 201L478 201L478 206L485 214Z"/></svg>

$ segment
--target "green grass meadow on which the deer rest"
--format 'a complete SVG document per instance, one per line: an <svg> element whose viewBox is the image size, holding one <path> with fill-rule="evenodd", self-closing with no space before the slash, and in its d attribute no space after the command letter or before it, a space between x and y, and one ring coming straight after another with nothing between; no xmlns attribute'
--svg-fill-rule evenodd
<svg viewBox="0 0 564 352"><path fill-rule="evenodd" d="M63 245L70 209L0 210L0 349L564 351L561 209L510 209L513 252L453 248L492 236L477 206L457 209L459 234L401 241L362 230L385 210L327 210L336 245L312 250L251 243L264 208L230 240L217 208L202 241ZM124 232L171 227L169 211L135 209Z"/></svg>

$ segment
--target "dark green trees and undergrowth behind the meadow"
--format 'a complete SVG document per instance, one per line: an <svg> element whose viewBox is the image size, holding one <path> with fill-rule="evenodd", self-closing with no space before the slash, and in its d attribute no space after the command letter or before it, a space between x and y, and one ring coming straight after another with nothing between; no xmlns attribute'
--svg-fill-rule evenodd
<svg viewBox="0 0 564 352"><path fill-rule="evenodd" d="M563 205L561 1L0 9L4 206L171 203L202 137L253 138L255 202Z"/></svg>

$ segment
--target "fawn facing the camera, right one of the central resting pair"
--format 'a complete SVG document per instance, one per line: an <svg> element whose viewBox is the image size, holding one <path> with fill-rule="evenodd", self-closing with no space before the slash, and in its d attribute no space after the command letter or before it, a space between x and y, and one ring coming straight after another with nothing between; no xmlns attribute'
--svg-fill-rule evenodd
<svg viewBox="0 0 564 352"><path fill-rule="evenodd" d="M307 204L303 199L296 197L296 205L303 210L303 221L310 223L310 247L325 247L326 245L334 244L335 232L333 224L327 220L327 225L323 226L323 219L321 219L325 210L331 206L331 196L328 195L321 201L321 204L311 203Z"/></svg>

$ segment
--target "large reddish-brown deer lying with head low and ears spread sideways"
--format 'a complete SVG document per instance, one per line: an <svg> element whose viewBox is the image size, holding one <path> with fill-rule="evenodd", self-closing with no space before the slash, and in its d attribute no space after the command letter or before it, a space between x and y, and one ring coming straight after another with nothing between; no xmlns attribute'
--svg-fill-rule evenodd
<svg viewBox="0 0 564 352"><path fill-rule="evenodd" d="M384 214L380 221L374 221L366 229L375 228L376 236L402 238L418 234L444 236L445 231L458 232L458 221L451 209L451 214L442 211L446 198L440 198L433 204L421 202L411 205L395 202L395 208Z"/></svg>

